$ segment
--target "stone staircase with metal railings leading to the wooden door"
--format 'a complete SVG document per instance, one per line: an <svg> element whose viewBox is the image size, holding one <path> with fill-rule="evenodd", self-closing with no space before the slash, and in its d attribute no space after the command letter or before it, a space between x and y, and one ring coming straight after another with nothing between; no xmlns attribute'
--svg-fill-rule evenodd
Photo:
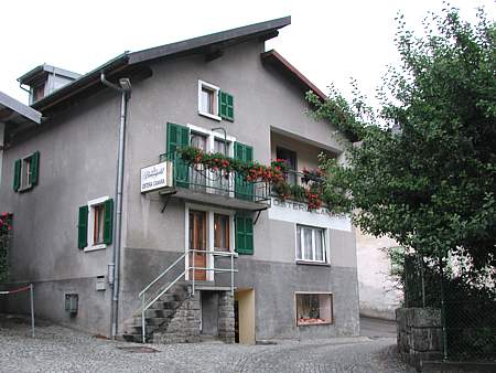
<svg viewBox="0 0 496 373"><path fill-rule="evenodd" d="M219 337L227 342L234 341L234 258L238 255L229 252L202 251L204 255L230 257L230 268L201 268L185 262L190 249L182 254L162 274L153 279L140 294L141 308L125 322L122 337L130 342L181 343L201 340L200 330L202 315L200 310L200 294L195 295L198 281L192 276L191 281L184 281L191 270L214 270L229 273L230 286L203 286L205 290L219 291ZM186 267L187 264L187 267ZM172 280L165 280L177 268L185 268ZM202 281L200 281L202 283ZM201 290L202 287L198 288ZM220 322L223 321L223 322ZM233 329L233 330L231 330Z"/></svg>

